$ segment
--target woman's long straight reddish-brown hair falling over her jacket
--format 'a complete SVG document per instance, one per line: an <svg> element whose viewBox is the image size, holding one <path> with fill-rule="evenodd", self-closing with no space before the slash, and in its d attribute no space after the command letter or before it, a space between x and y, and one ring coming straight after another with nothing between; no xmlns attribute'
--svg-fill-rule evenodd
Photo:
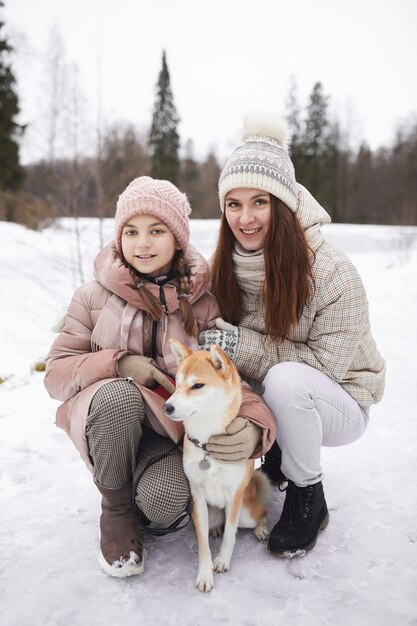
<svg viewBox="0 0 417 626"><path fill-rule="evenodd" d="M300 320L312 295L314 253L297 215L275 196L270 194L270 198L271 221L264 243L265 332L272 339L283 341L291 326ZM211 291L222 317L232 324L239 324L242 299L233 272L234 244L235 237L223 213L212 262Z"/></svg>

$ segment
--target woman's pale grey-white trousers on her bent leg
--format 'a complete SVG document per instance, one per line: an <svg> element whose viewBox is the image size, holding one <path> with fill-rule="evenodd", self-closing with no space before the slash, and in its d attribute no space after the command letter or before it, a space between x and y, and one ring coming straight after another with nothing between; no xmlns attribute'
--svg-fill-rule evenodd
<svg viewBox="0 0 417 626"><path fill-rule="evenodd" d="M299 487L323 479L321 446L352 443L368 425L369 409L309 365L274 365L265 377L264 389L264 400L277 422L281 469Z"/></svg>

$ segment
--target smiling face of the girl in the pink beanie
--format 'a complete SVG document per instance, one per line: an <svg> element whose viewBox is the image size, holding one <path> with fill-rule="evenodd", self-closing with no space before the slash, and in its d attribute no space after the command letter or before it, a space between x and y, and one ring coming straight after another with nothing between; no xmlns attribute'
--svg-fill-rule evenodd
<svg viewBox="0 0 417 626"><path fill-rule="evenodd" d="M123 226L121 242L129 265L153 278L169 273L180 249L168 226L154 215L132 217Z"/></svg>

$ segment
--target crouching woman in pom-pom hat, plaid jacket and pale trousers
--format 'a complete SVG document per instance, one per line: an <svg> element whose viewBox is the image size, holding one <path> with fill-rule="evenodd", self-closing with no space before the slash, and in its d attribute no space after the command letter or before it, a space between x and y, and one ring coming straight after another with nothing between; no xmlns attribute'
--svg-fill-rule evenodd
<svg viewBox="0 0 417 626"><path fill-rule="evenodd" d="M275 416L264 469L288 485L268 547L294 556L328 523L320 448L363 435L385 363L358 272L323 239L330 217L296 182L285 140L280 120L247 117L221 173L212 292L223 319L199 343L226 350Z"/></svg>

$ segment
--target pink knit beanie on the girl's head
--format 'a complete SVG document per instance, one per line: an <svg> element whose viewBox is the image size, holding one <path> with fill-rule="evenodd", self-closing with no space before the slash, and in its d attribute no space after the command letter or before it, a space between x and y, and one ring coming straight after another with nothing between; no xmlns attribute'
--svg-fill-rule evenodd
<svg viewBox="0 0 417 626"><path fill-rule="evenodd" d="M191 207L187 196L167 180L155 180L149 176L135 178L120 194L115 215L114 242L122 254L121 236L123 226L135 215L159 217L175 236L185 252L190 241L188 216Z"/></svg>

